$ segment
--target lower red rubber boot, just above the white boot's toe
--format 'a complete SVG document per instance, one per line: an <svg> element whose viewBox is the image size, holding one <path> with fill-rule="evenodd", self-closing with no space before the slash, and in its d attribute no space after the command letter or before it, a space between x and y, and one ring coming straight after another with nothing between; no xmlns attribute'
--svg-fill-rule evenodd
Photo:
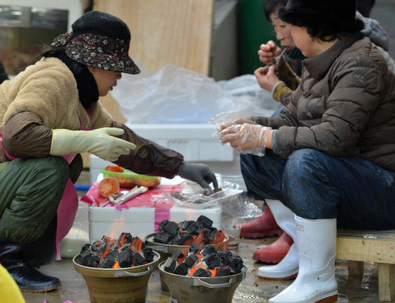
<svg viewBox="0 0 395 303"><path fill-rule="evenodd" d="M293 239L287 233L283 233L281 237L271 245L255 250L253 259L256 261L277 264L284 258L284 256L286 256L292 244Z"/></svg>

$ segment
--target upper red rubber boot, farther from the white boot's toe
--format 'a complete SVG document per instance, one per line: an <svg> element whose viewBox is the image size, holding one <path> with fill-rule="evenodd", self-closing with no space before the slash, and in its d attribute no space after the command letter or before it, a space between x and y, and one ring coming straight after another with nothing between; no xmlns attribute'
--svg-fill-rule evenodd
<svg viewBox="0 0 395 303"><path fill-rule="evenodd" d="M262 215L258 216L253 221L238 225L241 225L241 237L257 239L268 235L280 236L284 233L279 225L277 225L272 211L270 211L267 205L265 205Z"/></svg>

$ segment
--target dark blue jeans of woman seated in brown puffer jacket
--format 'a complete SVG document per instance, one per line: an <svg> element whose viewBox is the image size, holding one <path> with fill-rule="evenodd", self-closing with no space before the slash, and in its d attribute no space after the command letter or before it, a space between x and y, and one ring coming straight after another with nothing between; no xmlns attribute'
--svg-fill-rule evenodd
<svg viewBox="0 0 395 303"><path fill-rule="evenodd" d="M299 149L282 159L241 154L241 173L255 199L279 199L296 215L337 218L339 228L395 228L395 179L356 156L333 157Z"/></svg>

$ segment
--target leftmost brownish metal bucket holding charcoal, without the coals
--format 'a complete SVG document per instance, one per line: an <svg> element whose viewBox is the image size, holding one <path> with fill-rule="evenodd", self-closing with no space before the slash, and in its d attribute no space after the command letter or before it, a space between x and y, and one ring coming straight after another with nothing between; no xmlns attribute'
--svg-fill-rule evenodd
<svg viewBox="0 0 395 303"><path fill-rule="evenodd" d="M159 253L154 254L154 261L127 268L82 266L75 261L79 255L73 257L73 264L87 283L91 303L144 303L148 280L159 263Z"/></svg>

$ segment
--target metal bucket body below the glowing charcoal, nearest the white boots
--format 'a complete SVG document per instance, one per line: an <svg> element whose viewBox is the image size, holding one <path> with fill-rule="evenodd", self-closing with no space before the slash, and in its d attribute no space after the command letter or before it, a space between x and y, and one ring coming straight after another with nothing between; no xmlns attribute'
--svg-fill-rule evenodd
<svg viewBox="0 0 395 303"><path fill-rule="evenodd" d="M231 303L233 293L245 279L247 268L241 273L225 277L186 277L164 271L159 264L159 274L169 287L172 303Z"/></svg>

